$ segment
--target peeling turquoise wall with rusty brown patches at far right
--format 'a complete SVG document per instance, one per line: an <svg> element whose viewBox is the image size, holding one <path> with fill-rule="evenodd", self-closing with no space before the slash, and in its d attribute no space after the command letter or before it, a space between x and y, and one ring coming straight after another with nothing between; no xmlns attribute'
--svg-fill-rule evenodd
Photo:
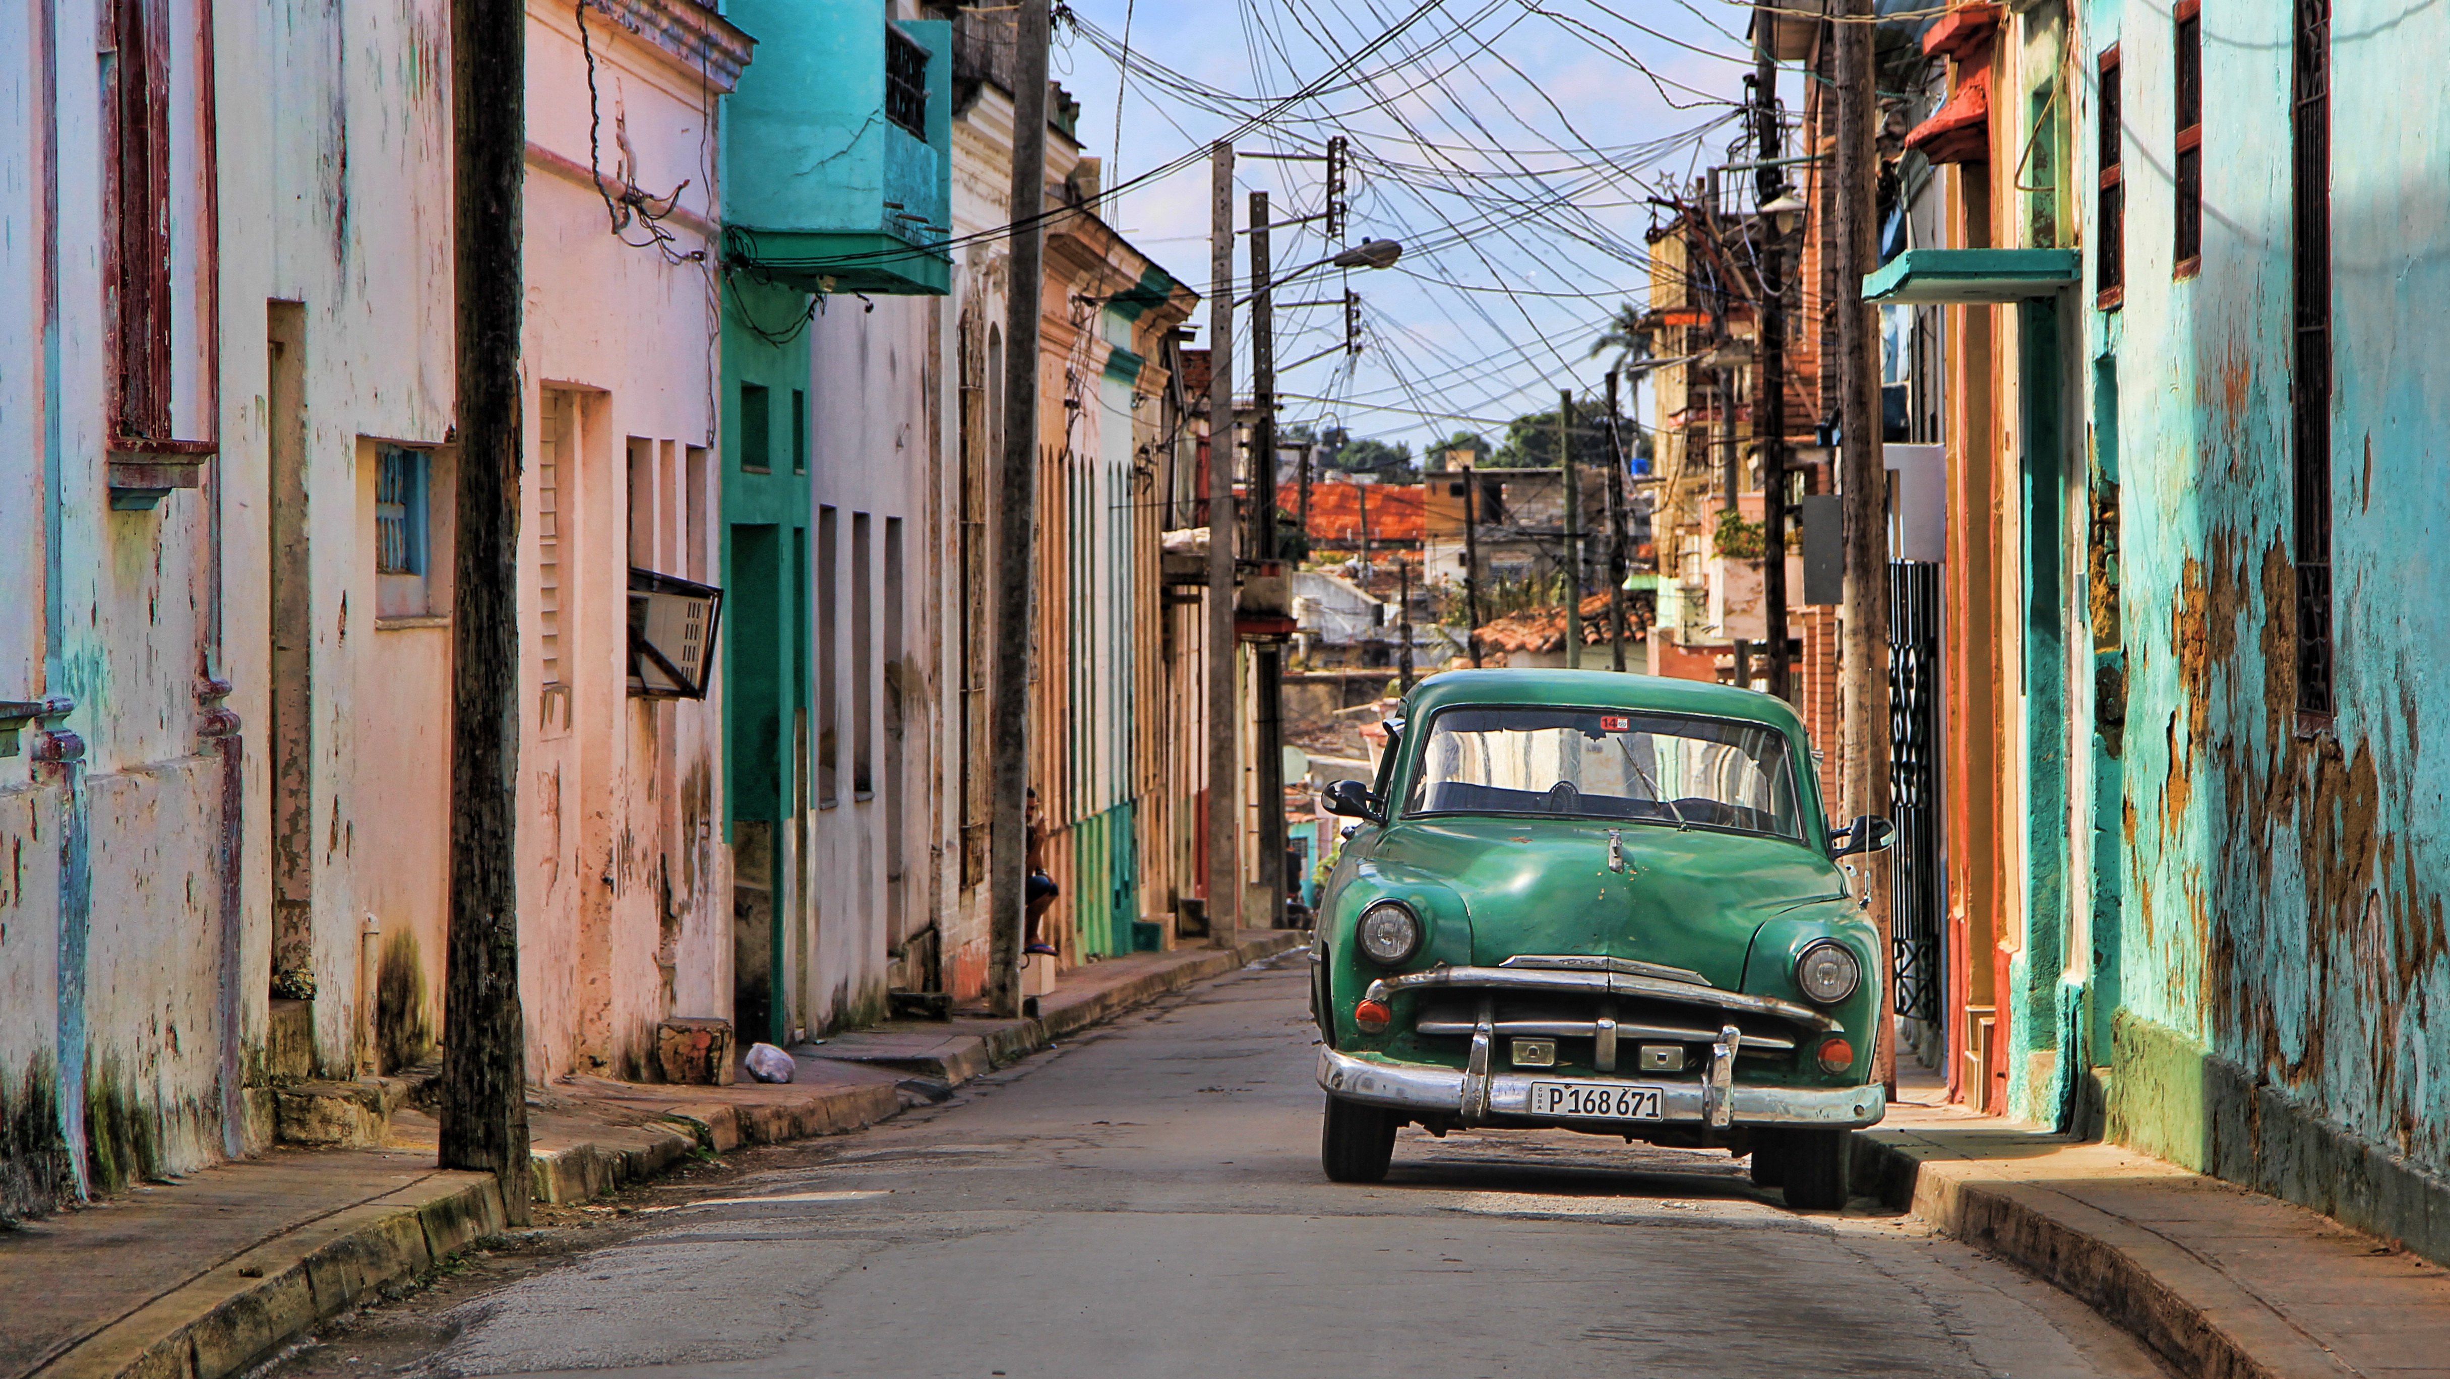
<svg viewBox="0 0 2450 1379"><path fill-rule="evenodd" d="M2450 15L2372 0L2332 15L2337 718L2305 730L2293 708L2288 17L2276 2L2203 10L2205 147L2222 152L2203 164L2190 279L2173 279L2171 252L2168 17L2092 5L2080 44L2090 71L2090 54L2119 42L2129 113L2124 306L2097 311L2087 291L2082 309L2087 353L2114 370L2124 480L2117 980L2122 1016L2141 1024L2122 1051L2215 1061L2325 1134L2450 1173L2438 1075L2450 1065L2450 363L2438 348L2450 338L2450 118L2403 98L2433 81ZM2087 83L2078 147L2095 118ZM2173 1075L2198 1075L2198 1105L2129 1097L2114 1124L2180 1161L2227 1154L2212 1144L2227 1114L2210 1105L2215 1070L2114 1075L2163 1102L2188 1100Z"/></svg>

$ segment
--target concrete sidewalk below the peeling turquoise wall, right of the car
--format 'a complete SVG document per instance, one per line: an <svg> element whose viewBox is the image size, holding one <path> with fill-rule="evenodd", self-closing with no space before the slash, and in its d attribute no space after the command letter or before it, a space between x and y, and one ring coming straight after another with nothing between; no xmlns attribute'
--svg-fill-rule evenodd
<svg viewBox="0 0 2450 1379"><path fill-rule="evenodd" d="M2188 1377L2450 1374L2450 1269L2305 1208L1901 1088L1855 1190L1999 1254Z"/></svg>

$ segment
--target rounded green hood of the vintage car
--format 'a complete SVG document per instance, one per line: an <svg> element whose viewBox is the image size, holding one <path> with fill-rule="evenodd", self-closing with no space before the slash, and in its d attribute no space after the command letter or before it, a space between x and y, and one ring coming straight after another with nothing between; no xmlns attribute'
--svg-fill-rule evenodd
<svg viewBox="0 0 2450 1379"><path fill-rule="evenodd" d="M1838 867L1776 838L1703 828L1615 825L1624 872L1607 865L1600 821L1423 818L1374 847L1387 870L1436 877L1470 914L1472 963L1585 953L1664 963L1740 990L1752 936L1798 904L1840 899Z"/></svg>

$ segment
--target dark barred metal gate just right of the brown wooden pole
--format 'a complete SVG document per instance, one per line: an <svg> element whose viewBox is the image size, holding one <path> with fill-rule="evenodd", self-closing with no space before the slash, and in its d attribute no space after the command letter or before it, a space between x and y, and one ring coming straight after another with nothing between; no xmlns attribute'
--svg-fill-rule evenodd
<svg viewBox="0 0 2450 1379"><path fill-rule="evenodd" d="M1889 561L1889 933L1896 1014L1938 1024L1940 926L1940 566Z"/></svg>

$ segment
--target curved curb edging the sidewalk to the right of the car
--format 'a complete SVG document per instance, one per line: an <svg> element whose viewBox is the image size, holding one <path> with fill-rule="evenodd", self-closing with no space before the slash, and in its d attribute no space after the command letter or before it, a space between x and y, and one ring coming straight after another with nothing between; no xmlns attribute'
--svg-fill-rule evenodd
<svg viewBox="0 0 2450 1379"><path fill-rule="evenodd" d="M2337 1377L2340 1362L2180 1244L2046 1183L1918 1156L1911 1132L1855 1132L1855 1190L2009 1259L2134 1332L2188 1379Z"/></svg>

